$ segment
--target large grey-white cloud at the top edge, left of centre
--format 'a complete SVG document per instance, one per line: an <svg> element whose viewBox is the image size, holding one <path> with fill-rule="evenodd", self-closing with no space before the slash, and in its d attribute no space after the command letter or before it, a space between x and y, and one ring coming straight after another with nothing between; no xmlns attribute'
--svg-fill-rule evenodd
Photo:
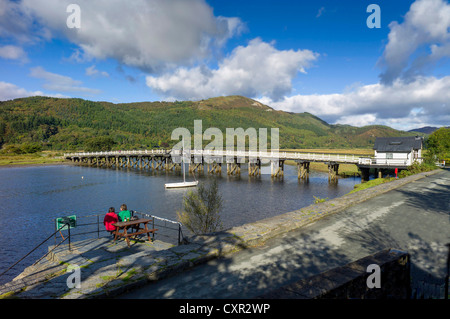
<svg viewBox="0 0 450 319"><path fill-rule="evenodd" d="M149 72L208 57L243 27L238 18L215 17L204 0L78 0L81 28L69 29L72 2L22 0L20 10L40 34L78 45L84 60L113 58Z"/></svg>

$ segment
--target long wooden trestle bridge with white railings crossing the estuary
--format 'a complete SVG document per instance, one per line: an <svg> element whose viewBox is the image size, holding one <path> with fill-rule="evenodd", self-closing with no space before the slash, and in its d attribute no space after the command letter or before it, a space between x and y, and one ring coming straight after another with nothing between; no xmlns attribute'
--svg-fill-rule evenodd
<svg viewBox="0 0 450 319"><path fill-rule="evenodd" d="M108 168L137 168L148 170L181 170L182 155L180 151L172 150L139 150L111 152L81 152L64 154L66 160L88 166ZM272 177L284 175L284 163L287 160L297 163L298 178L309 177L311 162L328 164L329 180L336 180L339 164L360 163L358 155L318 154L301 152L252 152L226 150L191 150L184 153L185 163L189 164L190 172L221 174L222 165L226 164L228 175L241 173L241 165L248 165L250 176L261 175L262 166L270 164Z"/></svg>

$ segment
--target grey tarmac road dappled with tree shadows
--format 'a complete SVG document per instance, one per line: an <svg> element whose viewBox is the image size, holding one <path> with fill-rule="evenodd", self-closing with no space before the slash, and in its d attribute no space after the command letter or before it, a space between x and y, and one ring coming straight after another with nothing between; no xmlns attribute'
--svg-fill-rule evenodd
<svg viewBox="0 0 450 319"><path fill-rule="evenodd" d="M450 172L441 171L119 297L254 298L385 248L411 254L413 287L443 292L449 205Z"/></svg>

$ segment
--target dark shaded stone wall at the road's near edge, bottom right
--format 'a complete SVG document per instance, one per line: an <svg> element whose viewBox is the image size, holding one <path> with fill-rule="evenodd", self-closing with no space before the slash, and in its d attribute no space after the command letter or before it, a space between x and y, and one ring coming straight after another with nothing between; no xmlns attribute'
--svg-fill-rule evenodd
<svg viewBox="0 0 450 319"><path fill-rule="evenodd" d="M367 279L380 267L380 288L369 288ZM410 288L410 258L403 251L388 249L364 257L260 296L263 299L408 299Z"/></svg>

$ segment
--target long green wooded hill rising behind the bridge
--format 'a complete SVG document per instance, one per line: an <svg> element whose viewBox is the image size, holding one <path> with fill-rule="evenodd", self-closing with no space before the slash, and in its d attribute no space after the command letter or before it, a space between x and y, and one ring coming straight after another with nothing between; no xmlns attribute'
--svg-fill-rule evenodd
<svg viewBox="0 0 450 319"><path fill-rule="evenodd" d="M242 96L201 101L113 104L83 99L28 97L0 102L0 146L39 145L50 150L171 147L177 127L193 134L217 127L280 129L280 148L371 148L376 137L415 135L386 126L330 125L310 113L276 111ZM207 145L210 141L204 141ZM225 143L225 138L224 138Z"/></svg>

